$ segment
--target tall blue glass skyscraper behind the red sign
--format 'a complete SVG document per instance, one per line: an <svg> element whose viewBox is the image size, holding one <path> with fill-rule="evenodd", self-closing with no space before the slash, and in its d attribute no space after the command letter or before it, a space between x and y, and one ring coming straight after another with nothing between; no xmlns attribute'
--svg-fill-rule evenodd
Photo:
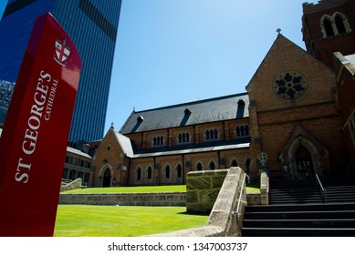
<svg viewBox="0 0 355 255"><path fill-rule="evenodd" d="M0 22L0 80L16 82L39 15L50 12L78 48L83 63L69 146L103 137L121 0L9 0Z"/></svg>

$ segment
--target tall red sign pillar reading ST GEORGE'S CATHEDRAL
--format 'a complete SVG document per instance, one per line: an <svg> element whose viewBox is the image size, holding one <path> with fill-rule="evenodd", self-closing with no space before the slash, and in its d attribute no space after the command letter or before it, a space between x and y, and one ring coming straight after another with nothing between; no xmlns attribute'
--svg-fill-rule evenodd
<svg viewBox="0 0 355 255"><path fill-rule="evenodd" d="M38 17L0 138L0 236L53 236L80 68L64 29Z"/></svg>

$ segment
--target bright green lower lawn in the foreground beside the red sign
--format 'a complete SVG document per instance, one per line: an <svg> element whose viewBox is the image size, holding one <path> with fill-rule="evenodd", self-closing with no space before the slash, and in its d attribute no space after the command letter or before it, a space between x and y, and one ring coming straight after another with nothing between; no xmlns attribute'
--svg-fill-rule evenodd
<svg viewBox="0 0 355 255"><path fill-rule="evenodd" d="M203 227L208 215L184 207L58 205L55 237L137 237Z"/></svg>

